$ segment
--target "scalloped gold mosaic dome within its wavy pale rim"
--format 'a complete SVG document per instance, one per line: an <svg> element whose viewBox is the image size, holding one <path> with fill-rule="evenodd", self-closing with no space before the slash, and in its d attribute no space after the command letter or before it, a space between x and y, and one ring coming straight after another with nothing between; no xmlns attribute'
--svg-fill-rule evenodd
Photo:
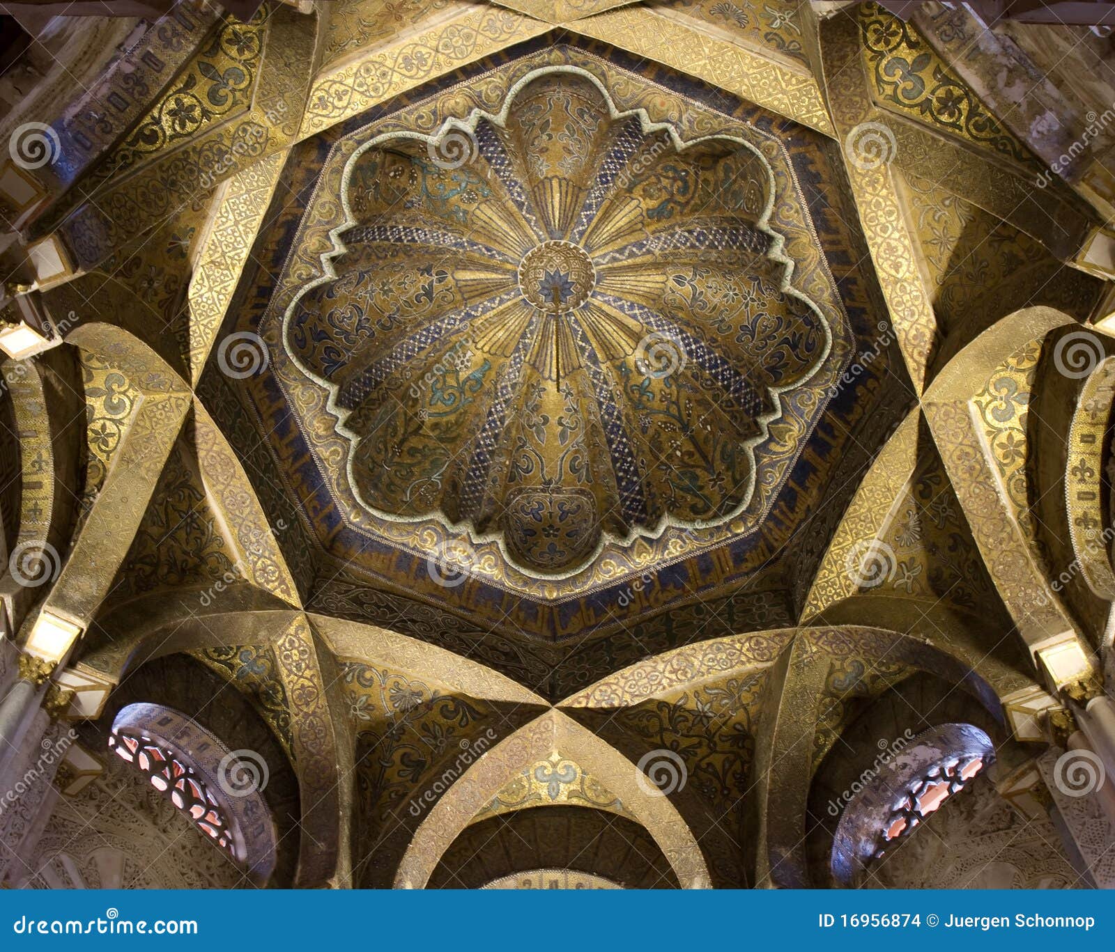
<svg viewBox="0 0 1115 952"><path fill-rule="evenodd" d="M542 574L730 519L779 394L831 347L770 196L754 146L685 142L575 71L435 136L372 139L336 274L284 329L358 498Z"/></svg>

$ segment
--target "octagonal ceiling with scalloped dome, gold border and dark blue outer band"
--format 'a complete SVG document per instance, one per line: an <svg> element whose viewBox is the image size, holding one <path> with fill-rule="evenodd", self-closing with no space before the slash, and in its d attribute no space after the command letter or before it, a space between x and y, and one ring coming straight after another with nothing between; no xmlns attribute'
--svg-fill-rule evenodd
<svg viewBox="0 0 1115 952"><path fill-rule="evenodd" d="M670 70L524 49L303 140L284 176L229 327L266 360L231 385L336 560L330 611L403 573L560 638L590 621L563 601L614 589L576 609L607 621L667 565L714 587L899 409L854 398L883 398L891 346L841 383L882 314L838 150Z"/></svg>

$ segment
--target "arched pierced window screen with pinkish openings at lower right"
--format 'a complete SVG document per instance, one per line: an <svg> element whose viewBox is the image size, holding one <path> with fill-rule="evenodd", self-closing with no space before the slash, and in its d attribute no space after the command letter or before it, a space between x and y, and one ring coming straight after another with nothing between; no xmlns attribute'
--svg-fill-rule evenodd
<svg viewBox="0 0 1115 952"><path fill-rule="evenodd" d="M993 759L995 745L978 727L944 723L922 731L888 760L869 766L833 837L836 881L854 885L872 861L909 836Z"/></svg>

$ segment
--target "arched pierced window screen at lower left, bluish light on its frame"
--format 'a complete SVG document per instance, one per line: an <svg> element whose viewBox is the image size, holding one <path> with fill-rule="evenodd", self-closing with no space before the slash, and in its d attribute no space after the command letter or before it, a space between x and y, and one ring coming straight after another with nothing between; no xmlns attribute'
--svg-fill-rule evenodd
<svg viewBox="0 0 1115 952"><path fill-rule="evenodd" d="M163 705L128 705L113 721L108 747L139 770L256 885L270 878L278 837L260 790L266 765L254 751L230 752L186 715ZM253 762L253 758L258 762ZM262 784L242 775L262 768Z"/></svg>

